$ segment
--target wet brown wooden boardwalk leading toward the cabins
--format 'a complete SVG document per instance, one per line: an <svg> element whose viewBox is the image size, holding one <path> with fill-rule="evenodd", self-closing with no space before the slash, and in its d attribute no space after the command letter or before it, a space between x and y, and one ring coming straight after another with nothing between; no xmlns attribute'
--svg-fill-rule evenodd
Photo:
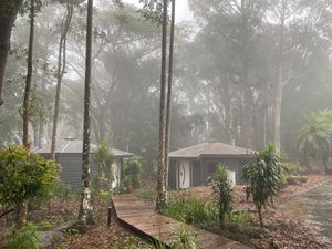
<svg viewBox="0 0 332 249"><path fill-rule="evenodd" d="M157 214L153 203L141 200L132 195L115 196L113 204L120 221L167 246L175 240L173 230L185 226L183 222ZM249 249L228 238L200 229L197 230L196 240L199 249Z"/></svg>

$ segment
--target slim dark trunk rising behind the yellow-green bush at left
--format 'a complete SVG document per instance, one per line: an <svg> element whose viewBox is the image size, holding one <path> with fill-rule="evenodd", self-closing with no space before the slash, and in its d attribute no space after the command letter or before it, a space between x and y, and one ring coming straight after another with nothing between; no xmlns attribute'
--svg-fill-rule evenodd
<svg viewBox="0 0 332 249"><path fill-rule="evenodd" d="M33 55L33 37L34 37L34 0L30 1L30 37L28 49L28 70L25 77L24 100L23 100L23 145L29 148L29 101L32 79L32 55Z"/></svg>

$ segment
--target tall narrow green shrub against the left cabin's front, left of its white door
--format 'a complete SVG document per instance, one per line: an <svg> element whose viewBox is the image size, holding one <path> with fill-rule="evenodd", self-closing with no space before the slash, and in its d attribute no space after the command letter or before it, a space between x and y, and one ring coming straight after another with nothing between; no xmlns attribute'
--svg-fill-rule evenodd
<svg viewBox="0 0 332 249"><path fill-rule="evenodd" d="M114 181L114 174L112 168L114 156L112 155L112 152L107 146L106 141L103 141L98 145L95 155L96 155L97 167L98 167L96 181L95 181L95 190L100 191L102 188L103 189L106 188L110 190L112 188L112 183Z"/></svg>

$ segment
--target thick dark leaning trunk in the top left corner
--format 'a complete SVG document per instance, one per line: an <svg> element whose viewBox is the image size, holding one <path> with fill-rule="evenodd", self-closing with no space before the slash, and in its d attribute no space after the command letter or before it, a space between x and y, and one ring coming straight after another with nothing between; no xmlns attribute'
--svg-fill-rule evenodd
<svg viewBox="0 0 332 249"><path fill-rule="evenodd" d="M10 49L11 30L22 2L23 0L2 0L0 2L0 106L3 104L2 85Z"/></svg>

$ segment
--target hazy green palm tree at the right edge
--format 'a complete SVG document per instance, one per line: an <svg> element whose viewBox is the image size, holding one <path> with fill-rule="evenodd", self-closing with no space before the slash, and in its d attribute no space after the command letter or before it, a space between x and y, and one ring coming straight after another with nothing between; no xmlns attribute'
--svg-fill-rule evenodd
<svg viewBox="0 0 332 249"><path fill-rule="evenodd" d="M298 149L302 153L304 163L308 164L308 157L321 156L326 173L331 138L332 111L320 111L304 116L297 134Z"/></svg>

